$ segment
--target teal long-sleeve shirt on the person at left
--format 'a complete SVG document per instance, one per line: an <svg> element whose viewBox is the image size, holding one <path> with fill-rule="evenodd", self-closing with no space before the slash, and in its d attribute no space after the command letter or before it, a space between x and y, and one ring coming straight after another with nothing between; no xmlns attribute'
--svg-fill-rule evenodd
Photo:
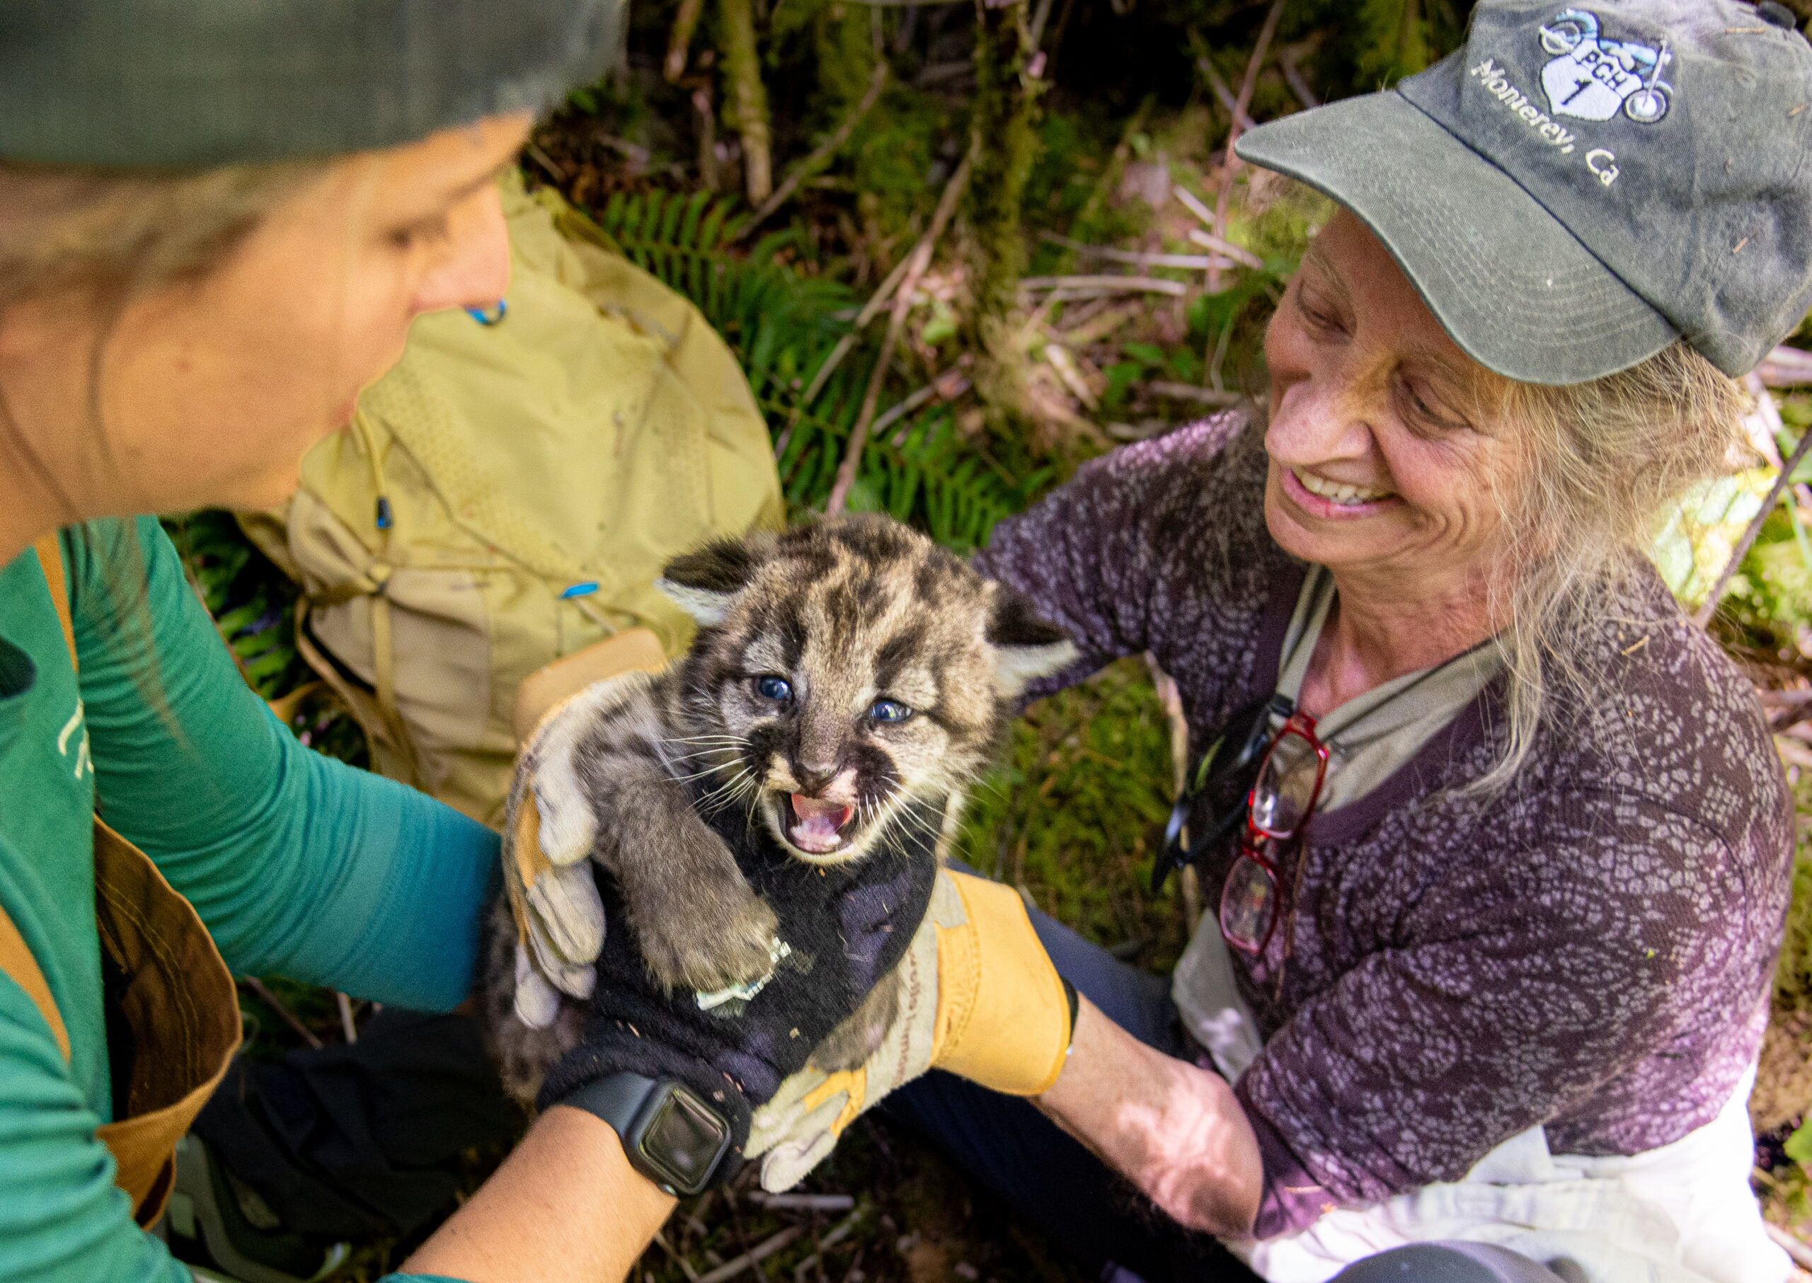
<svg viewBox="0 0 1812 1283"><path fill-rule="evenodd" d="M0 906L71 1049L0 975L0 1278L188 1283L94 1140L112 1100L91 814L188 897L234 973L433 1011L471 988L496 835L299 745L154 520L60 544L80 683L36 556L0 569Z"/></svg>

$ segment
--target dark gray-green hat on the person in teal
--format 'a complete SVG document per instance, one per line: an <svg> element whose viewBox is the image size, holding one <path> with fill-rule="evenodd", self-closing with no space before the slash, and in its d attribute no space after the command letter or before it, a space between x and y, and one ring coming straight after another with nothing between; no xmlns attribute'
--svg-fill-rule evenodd
<svg viewBox="0 0 1812 1283"><path fill-rule="evenodd" d="M391 147L596 80L627 0L0 0L0 158L203 169Z"/></svg>

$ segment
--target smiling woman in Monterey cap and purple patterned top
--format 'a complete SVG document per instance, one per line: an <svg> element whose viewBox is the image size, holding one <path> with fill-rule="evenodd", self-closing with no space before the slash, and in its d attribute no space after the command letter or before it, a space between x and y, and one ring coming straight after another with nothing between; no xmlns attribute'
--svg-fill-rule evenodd
<svg viewBox="0 0 1812 1283"><path fill-rule="evenodd" d="M1808 130L1783 5L1480 0L1437 67L1241 136L1339 207L1263 410L977 558L1064 680L1176 680L1209 912L1171 984L1040 921L1085 998L1042 1114L888 1107L1104 1278L1238 1278L1210 1234L1272 1283L1788 1276L1747 1098L1792 805L1643 547L1812 303Z"/></svg>

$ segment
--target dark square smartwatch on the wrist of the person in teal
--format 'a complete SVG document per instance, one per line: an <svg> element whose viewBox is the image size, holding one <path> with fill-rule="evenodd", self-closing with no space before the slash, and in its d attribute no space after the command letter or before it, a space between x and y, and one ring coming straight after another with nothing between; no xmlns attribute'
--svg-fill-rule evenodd
<svg viewBox="0 0 1812 1283"><path fill-rule="evenodd" d="M612 1073L560 1104L611 1124L629 1165L676 1198L701 1192L730 1149L730 1120L670 1078Z"/></svg>

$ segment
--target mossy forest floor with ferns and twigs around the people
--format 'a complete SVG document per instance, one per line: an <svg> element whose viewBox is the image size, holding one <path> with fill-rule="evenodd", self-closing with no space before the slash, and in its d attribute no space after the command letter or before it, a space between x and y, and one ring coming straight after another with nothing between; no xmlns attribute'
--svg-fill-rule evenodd
<svg viewBox="0 0 1812 1283"><path fill-rule="evenodd" d="M524 154L531 183L558 187L625 254L705 308L768 413L795 516L823 511L852 439L873 426L855 460L848 506L892 511L968 551L998 516L1033 502L1084 458L1169 431L1263 386L1265 317L1328 205L1281 179L1223 169L1234 100L1250 80L1239 114L1265 120L1381 74L1375 60L1337 56L1339 40L1316 27L1321 18L1314 14L1359 7L1299 4L1265 54L1259 22L1267 7L1212 0L1198 5L1209 14L1198 25L1165 36L1158 58L1160 9L1147 5L1127 18L1131 4L1116 0L1109 13L1082 0L1071 22L1073 4L1042 5L1055 31L1040 47L1049 53L1042 65L1055 85L1024 158L1011 359L977 339L973 292L986 256L978 257L962 214L928 246L928 266L899 308L897 348L873 381L879 397L866 410L863 393L882 366L884 324L859 335L844 370L815 399L814 388L801 388L864 304L888 303L888 281L935 225L939 198L960 169L977 92L964 5L884 16L846 11L835 0L761 5L763 40L772 42L763 65L774 156L797 185L759 227L734 223L750 208L727 194L741 187L747 158L714 98L714 47L701 36L701 49L681 49L683 74L660 71L672 22L667 9L638 7L654 16L638 18L631 33L631 72L609 89L574 94ZM1364 5L1368 13L1379 7ZM1430 29L1448 40L1464 20L1464 5L1437 0L1424 11L1444 14ZM1134 29L1140 22L1158 25ZM1142 71L1147 58L1154 63L1149 76ZM879 78L872 78L875 60L886 62ZM886 89L870 100L870 83ZM853 125L841 152L799 163L844 121ZM680 217L681 201L694 199L701 203ZM712 223L698 217L703 208L732 214ZM716 239L701 239L699 228L716 228ZM747 288L703 288L701 279ZM881 306L875 315L888 312ZM1796 341L1807 339L1812 333L1801 332ZM1011 377L977 388L989 362ZM1765 435L1785 455L1812 426L1812 391L1769 395L1778 422ZM1812 710L1812 466L1803 471L1763 526L1712 627L1769 692L1799 814L1808 815L1812 723L1798 714ZM1687 564L1669 578L1687 596L1703 593L1754 511L1741 498L1756 477L1765 473L1732 482L1736 491L1707 506L1718 511L1662 555L1678 560L1685 547ZM266 698L301 687L310 674L290 636L294 587L223 513L170 518L169 527L246 680ZM357 727L330 705L292 714L306 743L362 765ZM1024 888L1091 941L1167 973L1187 939L1185 906L1176 879L1156 899L1143 886L1171 781L1171 727L1152 678L1136 660L1116 663L1027 710L1006 761L973 801L959 855ZM1758 1091L1756 1187L1770 1223L1812 1243L1812 1176L1801 1165L1812 1162L1812 1134L1803 1151L1792 1140L1812 1105L1807 832L1801 823L1796 899ZM335 995L277 977L266 977L265 989L308 1037L346 1037ZM292 1022L255 991L246 989L243 1008L254 1055L303 1046ZM353 1026L359 1018L355 1008ZM467 1154L466 1187L477 1187L498 1160ZM815 1207L763 1203L752 1180L745 1172L732 1189L681 1205L634 1278L1080 1278L1027 1221L882 1120L861 1120L808 1178L801 1192L814 1194ZM411 1245L361 1245L346 1278L375 1279Z"/></svg>

